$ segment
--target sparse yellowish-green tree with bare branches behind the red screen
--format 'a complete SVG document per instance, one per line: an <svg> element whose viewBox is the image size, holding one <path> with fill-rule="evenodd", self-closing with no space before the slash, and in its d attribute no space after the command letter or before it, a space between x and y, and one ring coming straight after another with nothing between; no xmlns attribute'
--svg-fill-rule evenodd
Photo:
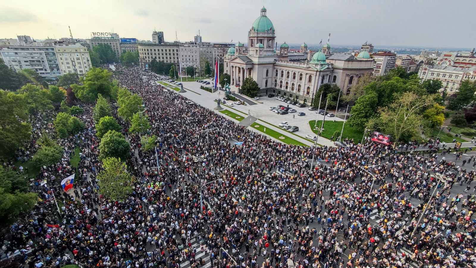
<svg viewBox="0 0 476 268"><path fill-rule="evenodd" d="M421 137L421 126L425 124L421 111L435 103L435 96L406 92L396 97L393 103L380 109L381 130L390 134L395 141Z"/></svg>

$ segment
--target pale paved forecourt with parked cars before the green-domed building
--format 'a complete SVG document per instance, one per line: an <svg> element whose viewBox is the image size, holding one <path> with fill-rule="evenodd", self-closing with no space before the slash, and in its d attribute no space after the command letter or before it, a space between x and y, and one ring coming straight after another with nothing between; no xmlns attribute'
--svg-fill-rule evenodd
<svg viewBox="0 0 476 268"><path fill-rule="evenodd" d="M179 80L178 80L179 81ZM210 81L207 79L207 81ZM212 81L210 81L212 82ZM217 91L215 93L209 93L205 90L200 89L200 86L204 85L203 83L199 82L183 82L184 88L190 89L194 92L200 93L201 95L195 94L195 93L184 93L185 96L188 98L192 99L193 101L208 107L210 109L213 109L216 107L216 103L214 102L215 98L223 98L224 97L224 92L223 91ZM212 86L213 84L210 83L210 85L206 85L208 87ZM205 86L205 85L204 85ZM232 91L238 92L238 89L234 86L231 86ZM230 103L231 101L227 101L227 103ZM258 103L262 102L262 103ZM265 122L268 122L269 124L273 124L278 126L279 123L286 121L288 124L291 126L297 126L299 127L299 130L295 132L295 134L305 137L308 134L315 135L311 128L309 127L309 121L311 120L322 120L324 118L323 115L317 114L316 111L309 111L308 106L304 108L299 108L296 105L292 104L287 104L285 102L278 101L276 99L276 96L273 98L268 98L268 96L259 97L258 102L256 102L256 105L236 105L234 104L232 108L242 111L243 113L248 113L254 117L257 117L258 119L261 119ZM288 114L277 114L269 110L269 107L278 107L278 105L284 105L288 106L290 108L296 109L296 113L288 113ZM224 108L227 108L227 105L222 105ZM321 106L324 106L322 104ZM228 108L229 109L229 108ZM323 107L321 107L323 109ZM306 115L304 116L298 116L298 112L304 112ZM294 115L294 118L293 118ZM317 116L317 117L316 117ZM337 117L327 117L326 116L326 121L327 120L336 120L336 121L343 121L340 118ZM325 123L324 123L324 128L326 128ZM283 134L288 133L288 131L280 128ZM319 137L319 140L317 141L319 144L326 144L326 145L331 145L333 144L329 140Z"/></svg>

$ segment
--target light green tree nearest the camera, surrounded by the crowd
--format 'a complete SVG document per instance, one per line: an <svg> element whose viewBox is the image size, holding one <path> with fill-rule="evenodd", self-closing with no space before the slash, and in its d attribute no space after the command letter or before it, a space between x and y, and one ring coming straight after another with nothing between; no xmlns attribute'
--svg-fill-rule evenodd
<svg viewBox="0 0 476 268"><path fill-rule="evenodd" d="M126 200L132 194L135 178L127 172L127 165L120 158L103 160L103 169L98 174L99 193L117 201Z"/></svg>

